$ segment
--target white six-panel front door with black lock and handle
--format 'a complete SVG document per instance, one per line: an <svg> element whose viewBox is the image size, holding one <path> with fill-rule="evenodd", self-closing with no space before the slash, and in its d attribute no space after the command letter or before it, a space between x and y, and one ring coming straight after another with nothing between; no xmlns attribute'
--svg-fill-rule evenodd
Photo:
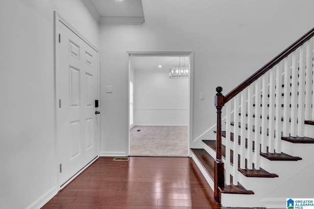
<svg viewBox="0 0 314 209"><path fill-rule="evenodd" d="M58 37L58 34L59 37ZM98 155L98 52L56 23L56 116L59 186Z"/></svg>

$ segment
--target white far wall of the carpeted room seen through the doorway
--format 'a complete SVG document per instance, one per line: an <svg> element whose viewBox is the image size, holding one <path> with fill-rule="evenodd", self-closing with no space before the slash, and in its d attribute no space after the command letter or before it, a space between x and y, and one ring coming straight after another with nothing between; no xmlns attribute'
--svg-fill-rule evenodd
<svg viewBox="0 0 314 209"><path fill-rule="evenodd" d="M188 125L188 79L135 70L135 125Z"/></svg>

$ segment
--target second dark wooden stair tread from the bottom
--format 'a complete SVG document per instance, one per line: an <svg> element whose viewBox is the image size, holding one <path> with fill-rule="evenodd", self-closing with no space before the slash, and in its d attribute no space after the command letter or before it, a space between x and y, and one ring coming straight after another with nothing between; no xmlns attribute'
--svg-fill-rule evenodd
<svg viewBox="0 0 314 209"><path fill-rule="evenodd" d="M215 140L203 140L211 149L216 151L216 141ZM226 146L222 144L221 150L222 156L226 159ZM230 153L230 162L233 163L233 151L231 150ZM240 161L240 158L238 158L238 161ZM246 167L246 166L245 166ZM260 170L253 169L241 169L240 168L240 162L238 162L238 171L242 173L246 177L262 177L262 178L275 178L278 177L277 174L269 173L265 171L264 169L260 168Z"/></svg>

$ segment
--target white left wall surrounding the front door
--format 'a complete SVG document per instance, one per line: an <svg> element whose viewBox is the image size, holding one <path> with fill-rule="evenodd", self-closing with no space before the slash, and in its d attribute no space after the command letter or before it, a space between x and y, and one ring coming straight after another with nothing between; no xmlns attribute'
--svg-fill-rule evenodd
<svg viewBox="0 0 314 209"><path fill-rule="evenodd" d="M53 11L99 46L80 0L0 1L0 208L38 208L56 192Z"/></svg>

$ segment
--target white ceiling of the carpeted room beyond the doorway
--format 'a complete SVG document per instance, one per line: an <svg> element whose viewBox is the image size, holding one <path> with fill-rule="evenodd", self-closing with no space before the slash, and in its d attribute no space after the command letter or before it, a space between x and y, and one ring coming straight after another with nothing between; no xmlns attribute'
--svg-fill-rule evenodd
<svg viewBox="0 0 314 209"><path fill-rule="evenodd" d="M185 59L185 61L184 61ZM180 63L179 63L179 60ZM168 57L168 56L131 56L131 65L135 70L169 70L175 66L188 66L188 57ZM162 67L159 68L158 65Z"/></svg>

